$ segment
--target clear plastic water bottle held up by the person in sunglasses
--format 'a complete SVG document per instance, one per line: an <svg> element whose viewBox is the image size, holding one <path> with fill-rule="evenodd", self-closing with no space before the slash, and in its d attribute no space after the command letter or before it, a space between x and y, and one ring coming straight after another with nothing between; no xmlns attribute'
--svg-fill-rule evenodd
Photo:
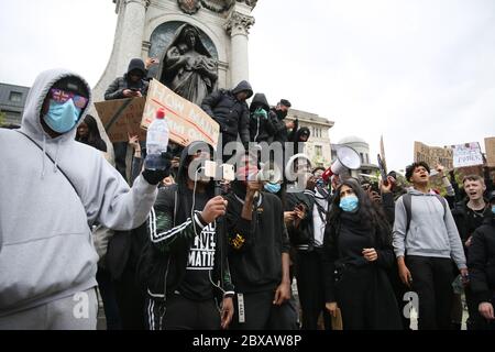
<svg viewBox="0 0 495 352"><path fill-rule="evenodd" d="M167 151L168 124L165 121L165 110L156 111L156 119L150 124L146 133L146 160L144 167L147 169L165 169L166 165L162 153Z"/></svg>

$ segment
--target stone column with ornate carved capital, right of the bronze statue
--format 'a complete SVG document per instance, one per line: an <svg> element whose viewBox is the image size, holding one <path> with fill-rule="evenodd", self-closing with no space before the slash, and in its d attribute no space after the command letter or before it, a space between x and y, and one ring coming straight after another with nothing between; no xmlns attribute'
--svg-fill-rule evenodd
<svg viewBox="0 0 495 352"><path fill-rule="evenodd" d="M249 67L249 34L250 28L254 24L254 18L238 11L232 11L224 25L227 33L231 36L231 86L234 87L241 80L250 77ZM232 88L231 87L231 88Z"/></svg>

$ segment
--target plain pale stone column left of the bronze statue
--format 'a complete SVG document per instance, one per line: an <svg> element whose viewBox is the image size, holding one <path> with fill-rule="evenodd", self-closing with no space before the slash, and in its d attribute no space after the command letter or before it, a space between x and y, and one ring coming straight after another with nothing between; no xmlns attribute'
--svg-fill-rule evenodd
<svg viewBox="0 0 495 352"><path fill-rule="evenodd" d="M143 32L146 19L148 0L120 0L123 2L123 23L120 33L120 54L117 65L117 75L128 70L129 62L142 57Z"/></svg>

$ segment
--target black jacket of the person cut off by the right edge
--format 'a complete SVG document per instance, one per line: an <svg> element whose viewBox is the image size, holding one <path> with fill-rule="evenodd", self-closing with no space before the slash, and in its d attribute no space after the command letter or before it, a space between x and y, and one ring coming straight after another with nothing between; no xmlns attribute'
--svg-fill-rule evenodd
<svg viewBox="0 0 495 352"><path fill-rule="evenodd" d="M479 302L495 297L495 217L488 215L474 231L469 249L468 267L471 289Z"/></svg>

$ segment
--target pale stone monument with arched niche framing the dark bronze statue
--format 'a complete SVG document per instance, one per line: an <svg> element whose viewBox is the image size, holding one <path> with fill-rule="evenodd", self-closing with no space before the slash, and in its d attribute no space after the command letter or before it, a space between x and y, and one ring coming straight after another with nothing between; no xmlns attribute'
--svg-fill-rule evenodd
<svg viewBox="0 0 495 352"><path fill-rule="evenodd" d="M256 1L196 0L200 7L194 14L184 12L177 0L113 2L119 16L116 38L107 69L94 89L95 101L103 100L107 87L125 74L132 58L150 56L153 34L158 26L170 22L197 26L215 45L219 66L218 88L229 89L249 79L249 30L254 24L250 14Z"/></svg>

